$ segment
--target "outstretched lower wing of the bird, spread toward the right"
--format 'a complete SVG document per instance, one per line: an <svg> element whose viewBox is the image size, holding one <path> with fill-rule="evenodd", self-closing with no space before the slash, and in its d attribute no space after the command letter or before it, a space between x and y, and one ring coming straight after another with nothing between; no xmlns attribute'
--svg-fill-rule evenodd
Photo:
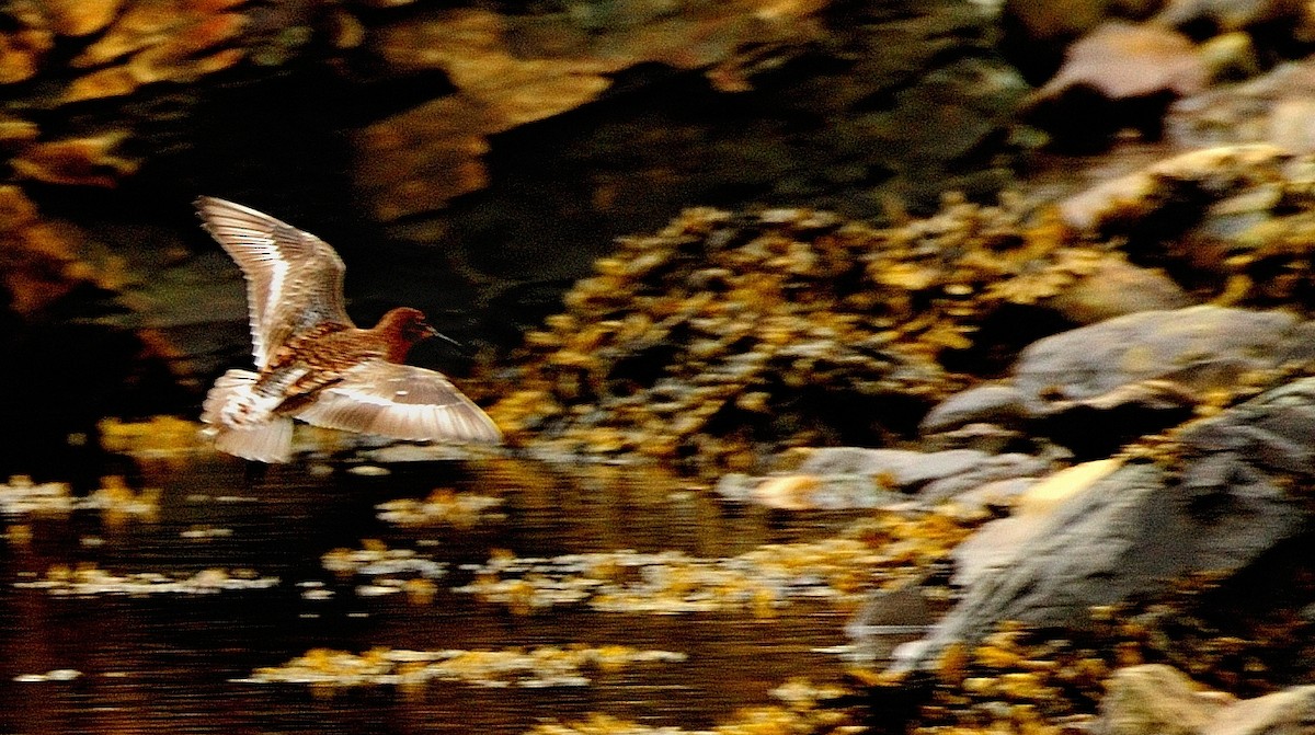
<svg viewBox="0 0 1315 735"><path fill-rule="evenodd" d="M422 442L497 444L497 425L442 373L366 360L325 387L297 418L327 429Z"/></svg>

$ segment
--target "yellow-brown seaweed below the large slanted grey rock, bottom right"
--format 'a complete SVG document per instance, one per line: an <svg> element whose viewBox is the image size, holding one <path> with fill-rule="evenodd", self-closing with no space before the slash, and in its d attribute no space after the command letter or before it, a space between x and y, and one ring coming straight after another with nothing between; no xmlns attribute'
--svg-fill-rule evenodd
<svg viewBox="0 0 1315 735"><path fill-rule="evenodd" d="M1308 575L1307 575L1308 577ZM1310 588L1310 580L1301 582ZM1047 631L1016 622L973 646L951 646L909 723L915 735L1061 735L1085 730L1119 667L1162 663L1239 697L1266 694L1307 672L1311 623L1295 611L1244 615L1201 596L1218 592L1210 575L1181 580L1155 602L1091 610L1084 630ZM1206 614L1210 607L1216 607ZM1227 606L1226 606L1227 607ZM911 682L860 675L874 690Z"/></svg>

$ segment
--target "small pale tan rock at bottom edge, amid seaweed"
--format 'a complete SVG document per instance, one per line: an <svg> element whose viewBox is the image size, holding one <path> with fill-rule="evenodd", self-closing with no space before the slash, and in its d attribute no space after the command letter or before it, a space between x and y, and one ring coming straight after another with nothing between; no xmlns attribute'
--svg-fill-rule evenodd
<svg viewBox="0 0 1315 735"><path fill-rule="evenodd" d="M1202 735L1230 705L1173 667L1144 664L1114 672L1101 699L1102 735Z"/></svg>

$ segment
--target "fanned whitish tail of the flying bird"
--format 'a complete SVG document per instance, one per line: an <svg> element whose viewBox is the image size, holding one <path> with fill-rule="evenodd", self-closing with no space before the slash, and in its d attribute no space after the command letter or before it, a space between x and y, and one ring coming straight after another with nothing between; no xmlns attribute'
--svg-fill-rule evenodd
<svg viewBox="0 0 1315 735"><path fill-rule="evenodd" d="M292 459L292 419L274 413L275 400L252 391L256 373L230 369L205 396L201 421L220 451L258 462Z"/></svg>

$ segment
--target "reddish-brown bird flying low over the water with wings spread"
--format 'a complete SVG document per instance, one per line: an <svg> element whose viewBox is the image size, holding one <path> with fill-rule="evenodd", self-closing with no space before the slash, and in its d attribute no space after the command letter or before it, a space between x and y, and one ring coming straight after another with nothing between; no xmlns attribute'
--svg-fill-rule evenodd
<svg viewBox="0 0 1315 735"><path fill-rule="evenodd" d="M497 425L441 372L404 364L442 337L400 306L371 329L343 308L346 267L334 249L249 206L203 196L203 225L246 279L255 369L229 369L201 406L216 448L263 463L292 459L293 419L417 442L497 444Z"/></svg>

